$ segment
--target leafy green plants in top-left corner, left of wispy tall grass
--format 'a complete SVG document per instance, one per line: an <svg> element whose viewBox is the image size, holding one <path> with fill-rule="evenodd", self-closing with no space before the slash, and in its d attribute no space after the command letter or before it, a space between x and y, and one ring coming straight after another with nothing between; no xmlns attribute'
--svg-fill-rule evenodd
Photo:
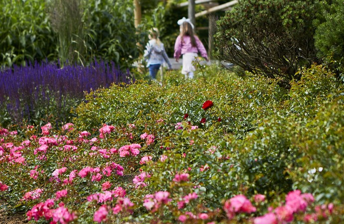
<svg viewBox="0 0 344 224"><path fill-rule="evenodd" d="M42 0L0 1L0 67L56 58L53 33Z"/></svg>

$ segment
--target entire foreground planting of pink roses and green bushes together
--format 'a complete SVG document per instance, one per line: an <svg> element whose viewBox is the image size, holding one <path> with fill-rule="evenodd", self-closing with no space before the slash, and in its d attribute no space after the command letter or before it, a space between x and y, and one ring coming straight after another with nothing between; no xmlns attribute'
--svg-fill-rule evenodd
<svg viewBox="0 0 344 224"><path fill-rule="evenodd" d="M32 223L59 212L66 223L343 222L334 74L303 69L287 92L211 71L91 92L60 130L1 128L7 211L28 211ZM306 91L314 98L292 110Z"/></svg>

